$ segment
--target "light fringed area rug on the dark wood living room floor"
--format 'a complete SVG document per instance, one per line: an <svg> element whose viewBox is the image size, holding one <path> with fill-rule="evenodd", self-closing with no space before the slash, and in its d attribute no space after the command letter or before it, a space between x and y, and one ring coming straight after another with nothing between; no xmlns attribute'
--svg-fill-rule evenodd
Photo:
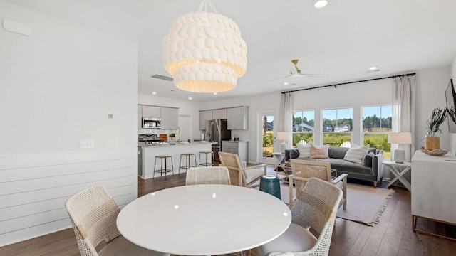
<svg viewBox="0 0 456 256"><path fill-rule="evenodd" d="M289 204L288 183L281 182L280 187L281 200ZM348 183L347 210L343 210L341 206L336 216L369 226L378 224L380 216L385 211L386 206L388 206L388 202L394 192L393 189L388 188L373 188L373 186ZM293 194L295 197L296 191L293 191Z"/></svg>

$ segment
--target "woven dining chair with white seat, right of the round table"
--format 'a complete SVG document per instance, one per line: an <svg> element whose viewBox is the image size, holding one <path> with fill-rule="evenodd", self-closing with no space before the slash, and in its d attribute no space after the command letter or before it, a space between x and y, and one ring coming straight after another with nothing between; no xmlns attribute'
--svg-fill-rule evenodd
<svg viewBox="0 0 456 256"><path fill-rule="evenodd" d="M341 198L342 191L337 186L319 178L309 178L291 208L289 228L278 238L261 245L260 256L328 255Z"/></svg>

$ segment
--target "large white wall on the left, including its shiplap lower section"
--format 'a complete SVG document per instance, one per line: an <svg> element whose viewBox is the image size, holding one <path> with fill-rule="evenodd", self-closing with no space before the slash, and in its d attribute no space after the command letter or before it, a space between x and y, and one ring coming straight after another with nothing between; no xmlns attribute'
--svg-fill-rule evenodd
<svg viewBox="0 0 456 256"><path fill-rule="evenodd" d="M0 28L0 246L70 227L66 198L95 183L137 196L137 43L0 0L4 18L31 36Z"/></svg>

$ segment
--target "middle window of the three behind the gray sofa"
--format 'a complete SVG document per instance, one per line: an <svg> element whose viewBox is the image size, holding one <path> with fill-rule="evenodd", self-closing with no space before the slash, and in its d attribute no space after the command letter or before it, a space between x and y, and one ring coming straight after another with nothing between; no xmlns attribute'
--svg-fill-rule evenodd
<svg viewBox="0 0 456 256"><path fill-rule="evenodd" d="M341 146L351 144L353 110L351 108L323 110L323 144Z"/></svg>

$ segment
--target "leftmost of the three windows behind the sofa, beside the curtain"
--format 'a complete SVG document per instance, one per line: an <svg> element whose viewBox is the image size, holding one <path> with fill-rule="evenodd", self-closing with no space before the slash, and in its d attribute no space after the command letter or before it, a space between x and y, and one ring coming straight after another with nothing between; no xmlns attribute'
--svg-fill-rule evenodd
<svg viewBox="0 0 456 256"><path fill-rule="evenodd" d="M304 140L314 141L315 111L293 112L293 146Z"/></svg>

